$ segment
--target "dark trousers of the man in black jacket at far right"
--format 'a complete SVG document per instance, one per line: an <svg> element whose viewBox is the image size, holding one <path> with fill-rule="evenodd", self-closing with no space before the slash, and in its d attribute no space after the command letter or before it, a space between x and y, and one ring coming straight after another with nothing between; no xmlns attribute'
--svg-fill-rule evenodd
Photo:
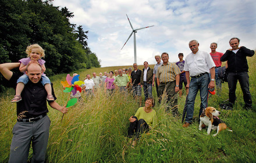
<svg viewBox="0 0 256 163"><path fill-rule="evenodd" d="M252 100L249 90L249 76L247 72L229 73L227 75L227 82L229 84L229 102L234 104L234 101L236 100L237 80L239 81L243 91L244 103L246 103L245 107L251 107Z"/></svg>

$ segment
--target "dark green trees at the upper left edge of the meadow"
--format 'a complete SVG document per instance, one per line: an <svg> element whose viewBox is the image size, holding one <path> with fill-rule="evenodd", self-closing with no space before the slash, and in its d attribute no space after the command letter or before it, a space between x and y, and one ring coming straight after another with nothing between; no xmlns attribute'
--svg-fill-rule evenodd
<svg viewBox="0 0 256 163"><path fill-rule="evenodd" d="M52 0L0 0L0 63L17 62L30 44L45 50L48 76L80 68L100 67L87 46L88 31L71 24L73 12Z"/></svg>

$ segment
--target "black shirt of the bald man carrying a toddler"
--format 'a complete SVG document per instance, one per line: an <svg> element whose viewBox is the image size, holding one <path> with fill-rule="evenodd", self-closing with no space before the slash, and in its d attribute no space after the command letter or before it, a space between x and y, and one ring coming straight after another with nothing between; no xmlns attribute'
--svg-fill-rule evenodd
<svg viewBox="0 0 256 163"><path fill-rule="evenodd" d="M15 88L16 81L19 75L13 73L12 78L10 78L9 86ZM52 86L52 84L51 84ZM56 100L54 95L54 89L52 86L52 95ZM22 119L38 117L39 115L48 113L47 108L47 92L41 81L34 84L29 80L22 91L22 100L17 103L17 116Z"/></svg>

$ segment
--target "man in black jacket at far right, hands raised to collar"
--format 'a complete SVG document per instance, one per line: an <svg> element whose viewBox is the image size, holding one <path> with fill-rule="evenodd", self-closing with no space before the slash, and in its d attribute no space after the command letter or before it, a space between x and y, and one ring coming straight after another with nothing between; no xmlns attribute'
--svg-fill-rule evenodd
<svg viewBox="0 0 256 163"><path fill-rule="evenodd" d="M229 84L229 106L233 107L234 101L236 100L236 84L237 80L241 85L244 97L244 108L251 109L251 93L249 90L249 76L248 64L246 57L253 56L254 50L247 49L244 46L239 48L239 38L232 38L229 41L232 49L228 49L226 53L221 57L221 61L227 61L227 82Z"/></svg>

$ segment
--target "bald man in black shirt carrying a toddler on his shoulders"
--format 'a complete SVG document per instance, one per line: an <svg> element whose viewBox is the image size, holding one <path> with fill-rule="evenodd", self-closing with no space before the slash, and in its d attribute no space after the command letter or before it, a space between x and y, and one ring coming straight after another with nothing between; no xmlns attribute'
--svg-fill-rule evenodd
<svg viewBox="0 0 256 163"><path fill-rule="evenodd" d="M19 75L10 70L18 66L19 63L0 64L0 73L13 88ZM9 162L27 162L31 142L32 162L44 162L51 121L47 116L47 92L40 82L42 74L40 64L37 62L28 64L26 74L29 76L29 82L23 89L21 95L23 100L17 103L17 123L13 126ZM54 95L53 89L52 93ZM54 98L56 100L55 95ZM66 107L59 106L55 101L49 102L49 105L63 114L68 111Z"/></svg>

